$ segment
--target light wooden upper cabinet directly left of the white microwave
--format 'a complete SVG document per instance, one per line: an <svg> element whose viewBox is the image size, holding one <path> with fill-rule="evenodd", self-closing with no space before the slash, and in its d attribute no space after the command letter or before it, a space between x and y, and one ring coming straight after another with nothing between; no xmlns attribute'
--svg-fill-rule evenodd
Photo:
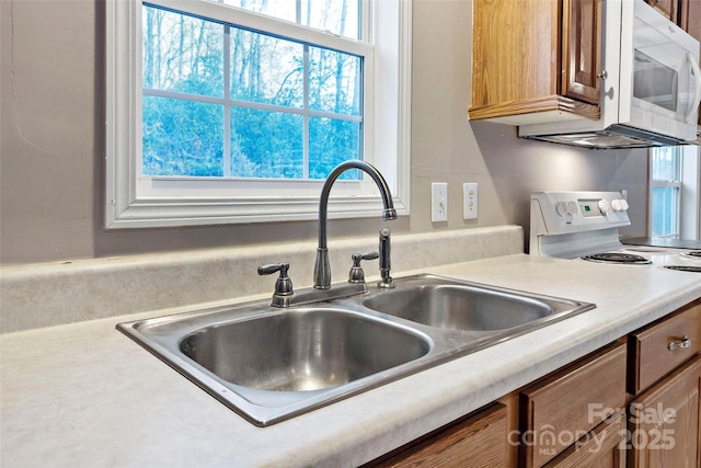
<svg viewBox="0 0 701 468"><path fill-rule="evenodd" d="M470 119L599 118L602 0L475 0Z"/></svg>

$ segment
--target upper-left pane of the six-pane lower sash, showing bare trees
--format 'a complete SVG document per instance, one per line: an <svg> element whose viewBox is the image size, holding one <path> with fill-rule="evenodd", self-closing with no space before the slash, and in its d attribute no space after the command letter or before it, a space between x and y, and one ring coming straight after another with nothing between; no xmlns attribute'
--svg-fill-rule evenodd
<svg viewBox="0 0 701 468"><path fill-rule="evenodd" d="M223 26L143 7L143 88L223 95Z"/></svg>

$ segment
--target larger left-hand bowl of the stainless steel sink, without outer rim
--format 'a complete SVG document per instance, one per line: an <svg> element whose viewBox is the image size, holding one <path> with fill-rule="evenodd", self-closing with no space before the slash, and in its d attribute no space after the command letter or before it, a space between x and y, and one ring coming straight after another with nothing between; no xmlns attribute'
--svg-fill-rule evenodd
<svg viewBox="0 0 701 468"><path fill-rule="evenodd" d="M429 350L429 340L417 333L338 309L301 309L209 326L180 343L184 355L218 377L268 391L340 386Z"/></svg>

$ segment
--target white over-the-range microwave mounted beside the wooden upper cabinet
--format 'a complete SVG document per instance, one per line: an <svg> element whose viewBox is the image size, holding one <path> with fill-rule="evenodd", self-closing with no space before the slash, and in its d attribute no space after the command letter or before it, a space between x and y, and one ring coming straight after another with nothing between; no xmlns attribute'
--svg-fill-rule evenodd
<svg viewBox="0 0 701 468"><path fill-rule="evenodd" d="M524 125L519 136L599 149L697 139L699 42L643 0L604 9L601 117Z"/></svg>

